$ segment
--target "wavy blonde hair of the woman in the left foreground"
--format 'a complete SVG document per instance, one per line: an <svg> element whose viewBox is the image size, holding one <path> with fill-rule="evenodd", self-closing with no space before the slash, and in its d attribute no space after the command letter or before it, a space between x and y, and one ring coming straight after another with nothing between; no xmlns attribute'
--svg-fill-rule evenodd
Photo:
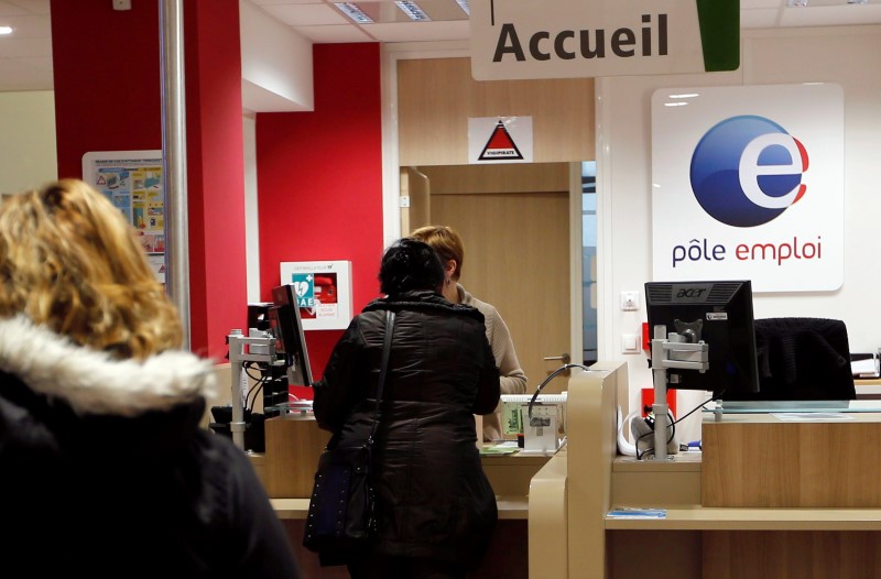
<svg viewBox="0 0 881 579"><path fill-rule="evenodd" d="M118 358L180 348L177 310L107 197L62 179L1 203L0 317L23 314Z"/></svg>

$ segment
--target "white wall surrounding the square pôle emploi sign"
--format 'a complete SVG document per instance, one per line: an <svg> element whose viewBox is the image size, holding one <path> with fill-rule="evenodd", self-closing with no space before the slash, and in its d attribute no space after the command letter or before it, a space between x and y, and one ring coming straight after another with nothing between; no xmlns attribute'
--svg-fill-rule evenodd
<svg viewBox="0 0 881 579"><path fill-rule="evenodd" d="M732 73L597 79L599 195L599 340L601 360L629 362L631 407L651 387L643 354L622 354L621 335L641 334L643 284L651 281L651 96L657 88L839 84L845 91L845 281L836 292L759 294L757 317L845 320L851 351L881 347L881 26L750 30L741 33L741 67ZM640 291L639 312L621 312L622 291ZM678 414L703 402L679 395ZM699 438L699 413L681 429Z"/></svg>

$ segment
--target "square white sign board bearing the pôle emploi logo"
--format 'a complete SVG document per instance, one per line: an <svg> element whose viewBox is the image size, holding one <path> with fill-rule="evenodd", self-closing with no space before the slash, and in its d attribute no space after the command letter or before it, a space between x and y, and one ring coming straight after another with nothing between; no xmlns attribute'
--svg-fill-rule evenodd
<svg viewBox="0 0 881 579"><path fill-rule="evenodd" d="M655 281L835 291L844 282L844 192L839 85L652 96Z"/></svg>

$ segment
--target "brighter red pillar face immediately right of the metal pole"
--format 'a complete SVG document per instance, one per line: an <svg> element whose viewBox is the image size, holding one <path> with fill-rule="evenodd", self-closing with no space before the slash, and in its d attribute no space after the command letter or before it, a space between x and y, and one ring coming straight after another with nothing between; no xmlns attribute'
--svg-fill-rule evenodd
<svg viewBox="0 0 881 579"><path fill-rule="evenodd" d="M193 350L222 361L248 321L238 0L184 2Z"/></svg>

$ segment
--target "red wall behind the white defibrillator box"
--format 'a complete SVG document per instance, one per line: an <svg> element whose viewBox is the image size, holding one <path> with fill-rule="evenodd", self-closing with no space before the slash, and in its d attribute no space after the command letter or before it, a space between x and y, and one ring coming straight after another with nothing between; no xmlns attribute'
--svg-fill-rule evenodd
<svg viewBox="0 0 881 579"><path fill-rule="evenodd" d="M261 299L283 261L348 260L352 314L379 296L382 121L379 44L313 46L315 110L257 116ZM342 330L306 331L314 379Z"/></svg>

